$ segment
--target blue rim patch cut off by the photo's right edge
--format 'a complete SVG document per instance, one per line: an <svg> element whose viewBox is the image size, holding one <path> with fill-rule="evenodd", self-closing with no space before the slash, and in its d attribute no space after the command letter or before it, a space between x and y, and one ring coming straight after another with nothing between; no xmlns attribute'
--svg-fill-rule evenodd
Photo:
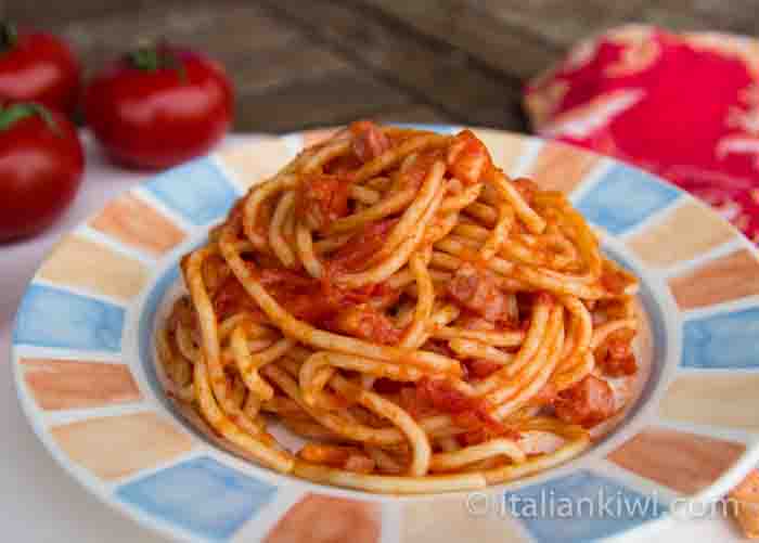
<svg viewBox="0 0 759 543"><path fill-rule="evenodd" d="M682 365L759 367L759 308L686 321Z"/></svg>

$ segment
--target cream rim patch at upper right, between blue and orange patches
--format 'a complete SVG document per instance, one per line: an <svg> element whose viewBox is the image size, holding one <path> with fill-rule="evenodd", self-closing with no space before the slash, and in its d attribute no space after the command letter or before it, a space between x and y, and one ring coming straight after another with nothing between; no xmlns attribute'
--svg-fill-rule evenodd
<svg viewBox="0 0 759 543"><path fill-rule="evenodd" d="M736 235L736 231L717 212L690 201L672 210L661 222L635 234L628 245L648 264L665 268L691 260Z"/></svg>

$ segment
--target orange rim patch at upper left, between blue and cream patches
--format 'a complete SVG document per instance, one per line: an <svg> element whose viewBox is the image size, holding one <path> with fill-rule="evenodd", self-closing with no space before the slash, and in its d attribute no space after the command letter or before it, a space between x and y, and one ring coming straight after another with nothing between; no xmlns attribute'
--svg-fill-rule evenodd
<svg viewBox="0 0 759 543"><path fill-rule="evenodd" d="M160 256L184 240L173 222L131 194L112 201L90 227L124 245Z"/></svg>

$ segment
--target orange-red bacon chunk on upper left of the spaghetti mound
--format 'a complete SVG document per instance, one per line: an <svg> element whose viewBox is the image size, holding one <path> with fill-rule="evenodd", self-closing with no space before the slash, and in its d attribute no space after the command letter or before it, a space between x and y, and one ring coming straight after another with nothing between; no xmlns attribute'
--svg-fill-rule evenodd
<svg viewBox="0 0 759 543"><path fill-rule="evenodd" d="M348 214L348 182L337 176L314 173L304 178L297 192L297 217L312 230L324 230Z"/></svg>

